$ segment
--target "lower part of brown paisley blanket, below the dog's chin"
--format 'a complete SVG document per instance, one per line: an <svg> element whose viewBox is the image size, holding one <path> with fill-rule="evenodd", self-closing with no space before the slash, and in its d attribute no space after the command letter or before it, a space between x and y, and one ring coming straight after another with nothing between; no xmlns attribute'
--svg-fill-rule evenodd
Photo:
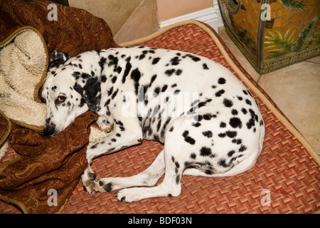
<svg viewBox="0 0 320 228"><path fill-rule="evenodd" d="M61 212L87 166L85 145L96 119L80 115L54 138L13 123L9 140L20 156L0 167L0 199L24 213Z"/></svg>

